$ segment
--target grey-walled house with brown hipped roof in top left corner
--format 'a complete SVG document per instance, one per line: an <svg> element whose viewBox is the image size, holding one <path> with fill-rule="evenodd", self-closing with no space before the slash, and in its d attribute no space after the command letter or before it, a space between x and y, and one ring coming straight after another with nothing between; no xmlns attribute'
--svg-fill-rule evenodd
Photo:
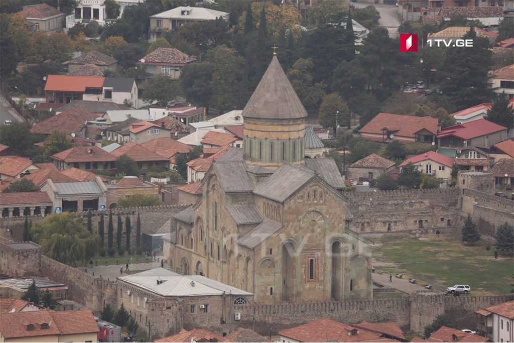
<svg viewBox="0 0 514 343"><path fill-rule="evenodd" d="M66 20L66 14L47 4L24 6L17 14L32 23L34 31L46 33L62 30Z"/></svg>

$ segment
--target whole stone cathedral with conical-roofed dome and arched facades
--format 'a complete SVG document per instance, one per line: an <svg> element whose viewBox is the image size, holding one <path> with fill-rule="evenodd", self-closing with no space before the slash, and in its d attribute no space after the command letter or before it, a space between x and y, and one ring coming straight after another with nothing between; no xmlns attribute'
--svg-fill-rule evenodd
<svg viewBox="0 0 514 343"><path fill-rule="evenodd" d="M371 242L350 229L335 161L306 158L307 112L277 56L242 115L243 149L216 160L200 200L174 215L165 265L260 304L372 299Z"/></svg>

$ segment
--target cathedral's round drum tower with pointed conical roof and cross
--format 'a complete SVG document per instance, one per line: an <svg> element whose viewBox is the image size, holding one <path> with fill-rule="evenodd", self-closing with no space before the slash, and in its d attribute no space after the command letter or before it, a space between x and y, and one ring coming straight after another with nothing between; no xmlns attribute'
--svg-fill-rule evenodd
<svg viewBox="0 0 514 343"><path fill-rule="evenodd" d="M242 115L244 156L249 167L277 169L305 163L305 117L276 53Z"/></svg>

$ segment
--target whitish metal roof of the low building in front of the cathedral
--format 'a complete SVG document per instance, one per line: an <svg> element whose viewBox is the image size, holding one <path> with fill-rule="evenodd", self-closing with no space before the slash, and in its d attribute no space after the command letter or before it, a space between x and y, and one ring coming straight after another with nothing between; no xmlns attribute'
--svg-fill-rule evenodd
<svg viewBox="0 0 514 343"><path fill-rule="evenodd" d="M145 270L118 280L131 283L163 297L192 297L208 295L252 295L238 288L200 275L181 275L164 268ZM157 284L157 280L162 283Z"/></svg>

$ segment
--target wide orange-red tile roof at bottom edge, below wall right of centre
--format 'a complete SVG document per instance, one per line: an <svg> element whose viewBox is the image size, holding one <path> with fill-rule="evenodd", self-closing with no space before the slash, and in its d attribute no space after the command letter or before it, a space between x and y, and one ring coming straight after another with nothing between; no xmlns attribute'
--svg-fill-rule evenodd
<svg viewBox="0 0 514 343"><path fill-rule="evenodd" d="M355 330L355 331L354 331ZM354 333L348 335L348 333ZM319 319L299 327L281 330L279 335L300 342L361 342L377 341L380 334L364 329L357 329L326 318Z"/></svg>

